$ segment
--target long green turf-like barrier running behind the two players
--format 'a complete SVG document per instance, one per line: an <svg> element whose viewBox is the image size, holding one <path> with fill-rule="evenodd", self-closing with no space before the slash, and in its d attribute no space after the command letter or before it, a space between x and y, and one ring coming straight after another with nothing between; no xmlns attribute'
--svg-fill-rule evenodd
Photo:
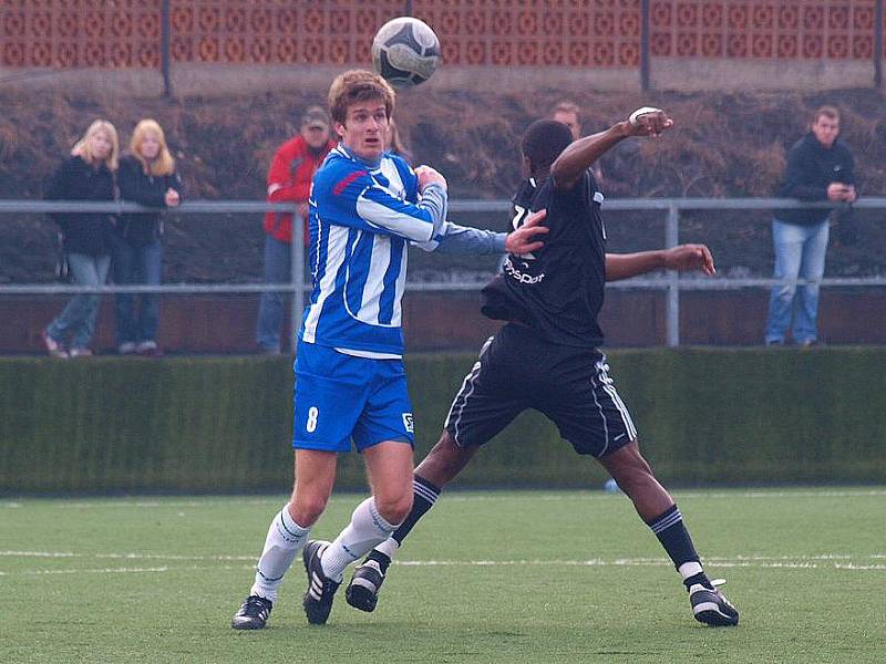
<svg viewBox="0 0 886 664"><path fill-rule="evenodd" d="M436 442L473 355L406 361L416 457ZM612 352L646 456L672 485L886 480L886 349ZM0 361L0 492L286 490L285 359ZM556 428L522 415L461 486L602 481ZM339 486L364 486L357 455Z"/></svg>

